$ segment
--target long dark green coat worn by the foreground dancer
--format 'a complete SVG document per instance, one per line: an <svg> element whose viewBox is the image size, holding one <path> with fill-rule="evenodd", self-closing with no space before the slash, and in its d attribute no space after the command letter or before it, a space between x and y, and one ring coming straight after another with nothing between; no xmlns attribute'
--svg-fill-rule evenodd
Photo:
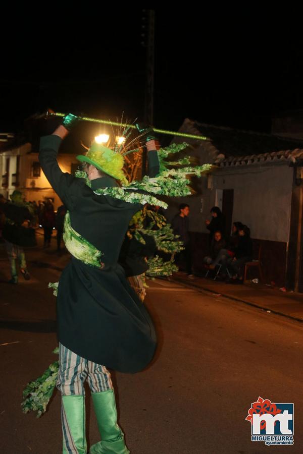
<svg viewBox="0 0 303 454"><path fill-rule="evenodd" d="M57 298L59 341L95 363L138 372L154 356L156 332L118 257L129 221L143 205L94 193L117 186L112 177L92 180L90 189L84 179L63 173L57 162L60 144L56 135L41 138L42 170L68 208L72 228L104 253L106 266L101 270L72 257L64 269ZM149 152L149 160L156 155Z"/></svg>

